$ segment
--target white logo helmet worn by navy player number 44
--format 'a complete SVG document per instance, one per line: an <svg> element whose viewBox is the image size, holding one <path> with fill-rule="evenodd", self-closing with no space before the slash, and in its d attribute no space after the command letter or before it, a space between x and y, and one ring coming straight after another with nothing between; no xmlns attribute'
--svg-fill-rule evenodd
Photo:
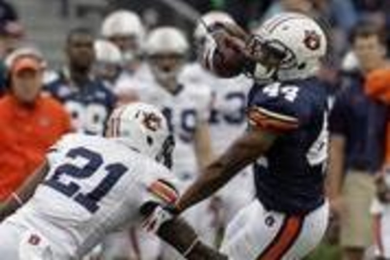
<svg viewBox="0 0 390 260"><path fill-rule="evenodd" d="M286 12L266 20L255 31L262 40L278 45L285 58L277 68L278 80L306 79L314 76L327 52L327 37L321 26L306 15ZM254 78L265 79L267 69L257 64Z"/></svg>

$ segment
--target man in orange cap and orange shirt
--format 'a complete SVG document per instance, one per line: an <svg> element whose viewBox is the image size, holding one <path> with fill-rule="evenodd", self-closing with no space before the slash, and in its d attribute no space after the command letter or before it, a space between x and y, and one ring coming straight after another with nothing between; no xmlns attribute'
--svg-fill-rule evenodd
<svg viewBox="0 0 390 260"><path fill-rule="evenodd" d="M61 104L41 95L44 60L20 48L6 61L7 93L0 100L0 203L42 162L46 150L70 131Z"/></svg>

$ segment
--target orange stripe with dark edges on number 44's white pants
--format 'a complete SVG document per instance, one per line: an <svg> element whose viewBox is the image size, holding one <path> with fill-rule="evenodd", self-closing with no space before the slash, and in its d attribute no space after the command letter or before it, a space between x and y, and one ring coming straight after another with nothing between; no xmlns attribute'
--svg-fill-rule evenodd
<svg viewBox="0 0 390 260"><path fill-rule="evenodd" d="M276 237L257 260L282 259L298 238L302 229L303 220L304 217L301 216L286 217Z"/></svg>

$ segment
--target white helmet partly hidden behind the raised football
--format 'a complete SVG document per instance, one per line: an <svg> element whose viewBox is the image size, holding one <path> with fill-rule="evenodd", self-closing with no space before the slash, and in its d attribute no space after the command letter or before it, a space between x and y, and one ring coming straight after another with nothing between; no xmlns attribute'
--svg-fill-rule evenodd
<svg viewBox="0 0 390 260"><path fill-rule="evenodd" d="M201 21L200 21L201 20ZM215 22L223 22L223 23L232 23L235 24L234 19L225 12L221 11L211 11L203 15L198 23L196 24L194 31L194 39L199 41L206 37L207 30L206 26L213 25Z"/></svg>

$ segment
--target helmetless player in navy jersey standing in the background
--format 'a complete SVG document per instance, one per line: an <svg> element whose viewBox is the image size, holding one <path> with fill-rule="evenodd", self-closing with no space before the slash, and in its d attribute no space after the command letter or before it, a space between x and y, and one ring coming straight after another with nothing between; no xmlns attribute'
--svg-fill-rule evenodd
<svg viewBox="0 0 390 260"><path fill-rule="evenodd" d="M92 74L94 37L84 28L70 31L66 40L67 67L48 82L45 90L60 100L72 117L76 131L101 135L116 98Z"/></svg>

